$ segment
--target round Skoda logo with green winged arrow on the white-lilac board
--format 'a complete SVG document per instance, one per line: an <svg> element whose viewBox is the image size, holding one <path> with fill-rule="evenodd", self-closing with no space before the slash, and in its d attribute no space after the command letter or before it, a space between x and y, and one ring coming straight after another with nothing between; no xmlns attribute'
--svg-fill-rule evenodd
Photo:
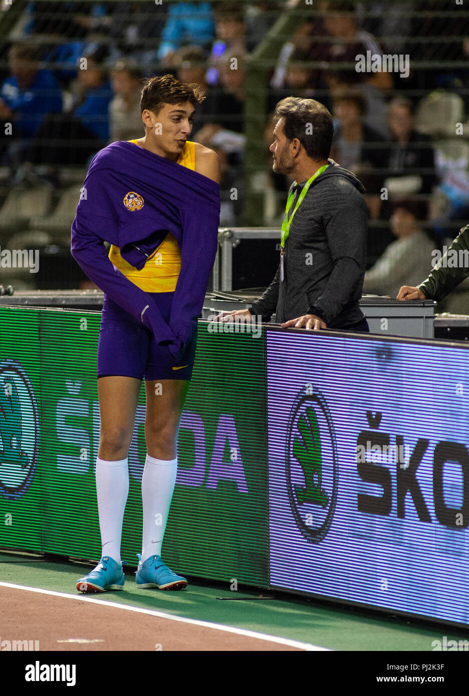
<svg viewBox="0 0 469 696"><path fill-rule="evenodd" d="M323 396L305 388L295 399L286 437L286 485L298 529L309 541L328 532L337 495L337 451Z"/></svg>

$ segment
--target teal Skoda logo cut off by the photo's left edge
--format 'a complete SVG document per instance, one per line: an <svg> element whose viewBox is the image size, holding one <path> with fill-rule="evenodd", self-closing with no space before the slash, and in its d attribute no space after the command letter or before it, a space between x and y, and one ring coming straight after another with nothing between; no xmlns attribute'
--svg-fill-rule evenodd
<svg viewBox="0 0 469 696"><path fill-rule="evenodd" d="M20 363L0 363L0 495L21 498L36 470L38 407Z"/></svg>

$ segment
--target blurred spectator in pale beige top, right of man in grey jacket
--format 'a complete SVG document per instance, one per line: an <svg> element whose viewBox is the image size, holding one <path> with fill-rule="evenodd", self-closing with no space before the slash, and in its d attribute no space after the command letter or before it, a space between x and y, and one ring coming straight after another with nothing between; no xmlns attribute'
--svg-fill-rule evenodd
<svg viewBox="0 0 469 696"><path fill-rule="evenodd" d="M431 271L434 242L420 226L424 206L410 200L394 203L390 219L395 242L364 274L364 294L396 297L402 285L418 285Z"/></svg>

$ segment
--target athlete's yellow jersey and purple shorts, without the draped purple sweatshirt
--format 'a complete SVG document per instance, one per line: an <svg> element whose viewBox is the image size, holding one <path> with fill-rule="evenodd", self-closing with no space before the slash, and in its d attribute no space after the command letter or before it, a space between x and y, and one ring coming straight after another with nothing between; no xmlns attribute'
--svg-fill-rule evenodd
<svg viewBox="0 0 469 696"><path fill-rule="evenodd" d="M137 140L128 142L139 147ZM185 143L177 164L195 171L195 143ZM140 270L122 258L117 246L112 245L109 249L109 259L128 280L157 299L162 317L169 321L171 301L180 273L180 248L176 238L168 232ZM187 344L182 358L175 364L169 357L167 347L157 345L146 326L105 296L98 342L98 377L120 375L146 380L190 379L196 340L197 337Z"/></svg>

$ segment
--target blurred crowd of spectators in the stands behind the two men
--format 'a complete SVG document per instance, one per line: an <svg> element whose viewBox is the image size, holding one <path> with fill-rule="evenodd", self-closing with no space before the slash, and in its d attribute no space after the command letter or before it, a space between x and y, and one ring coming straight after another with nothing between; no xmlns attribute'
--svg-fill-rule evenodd
<svg viewBox="0 0 469 696"><path fill-rule="evenodd" d="M302 13L278 44L259 131L264 205L247 221L245 59L293 8ZM206 91L190 139L220 157L222 226L281 223L291 179L272 173L269 113L289 95L328 106L331 157L367 189L364 292L395 296L419 283L431 252L469 223L469 8L454 0L12 0L2 10L0 246L59 250L56 287L69 272L89 161L108 143L144 135L140 80L167 72ZM408 75L357 72L355 56L367 52L408 55ZM16 276L15 287L43 282Z"/></svg>

